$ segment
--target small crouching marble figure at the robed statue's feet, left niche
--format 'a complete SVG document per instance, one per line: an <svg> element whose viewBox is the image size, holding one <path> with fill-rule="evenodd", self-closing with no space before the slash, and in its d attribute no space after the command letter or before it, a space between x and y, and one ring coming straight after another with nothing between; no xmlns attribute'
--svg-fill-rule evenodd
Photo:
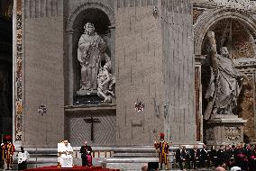
<svg viewBox="0 0 256 171"><path fill-rule="evenodd" d="M110 73L110 65L106 63L100 68L97 76L97 94L104 98L105 103L111 103L114 97L115 77Z"/></svg>

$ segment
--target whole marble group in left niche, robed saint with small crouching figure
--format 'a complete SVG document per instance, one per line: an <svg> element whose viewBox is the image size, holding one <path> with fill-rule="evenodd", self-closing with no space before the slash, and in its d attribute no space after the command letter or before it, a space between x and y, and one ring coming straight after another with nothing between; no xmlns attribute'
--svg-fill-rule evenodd
<svg viewBox="0 0 256 171"><path fill-rule="evenodd" d="M97 94L111 103L114 97L114 76L111 60L105 53L105 41L97 34L92 23L86 23L85 32L78 41L78 61L81 66L81 78L78 95ZM105 61L105 66L101 67Z"/></svg>

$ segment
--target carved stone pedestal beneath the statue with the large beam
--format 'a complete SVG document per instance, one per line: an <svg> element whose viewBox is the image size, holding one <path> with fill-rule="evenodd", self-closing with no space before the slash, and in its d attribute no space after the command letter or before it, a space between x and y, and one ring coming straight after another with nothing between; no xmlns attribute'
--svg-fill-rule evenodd
<svg viewBox="0 0 256 171"><path fill-rule="evenodd" d="M226 145L243 142L243 126L247 120L237 115L215 115L215 119L206 121L206 144Z"/></svg>

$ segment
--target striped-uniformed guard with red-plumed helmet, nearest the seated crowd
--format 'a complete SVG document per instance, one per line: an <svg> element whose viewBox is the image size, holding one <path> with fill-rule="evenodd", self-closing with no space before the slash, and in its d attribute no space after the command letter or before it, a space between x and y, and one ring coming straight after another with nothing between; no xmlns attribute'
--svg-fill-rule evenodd
<svg viewBox="0 0 256 171"><path fill-rule="evenodd" d="M160 142L155 141L154 147L159 150L159 159L160 159L160 170L162 170L162 164L165 164L166 169L168 166L168 153L169 153L169 144L164 140L164 133L160 133Z"/></svg>

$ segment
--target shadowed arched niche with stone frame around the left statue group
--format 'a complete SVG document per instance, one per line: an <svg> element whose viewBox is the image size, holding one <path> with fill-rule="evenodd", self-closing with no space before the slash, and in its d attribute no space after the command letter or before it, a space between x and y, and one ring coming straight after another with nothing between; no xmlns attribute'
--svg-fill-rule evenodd
<svg viewBox="0 0 256 171"><path fill-rule="evenodd" d="M65 103L73 104L76 99L76 92L79 86L80 65L77 59L78 40L84 32L83 26L87 23L94 23L96 32L105 40L107 45L106 53L114 64L114 11L107 4L100 1L87 2L76 8L66 25L67 42L65 48L65 67L68 67L65 78ZM114 66L114 65L113 65ZM114 72L114 68L113 68Z"/></svg>

